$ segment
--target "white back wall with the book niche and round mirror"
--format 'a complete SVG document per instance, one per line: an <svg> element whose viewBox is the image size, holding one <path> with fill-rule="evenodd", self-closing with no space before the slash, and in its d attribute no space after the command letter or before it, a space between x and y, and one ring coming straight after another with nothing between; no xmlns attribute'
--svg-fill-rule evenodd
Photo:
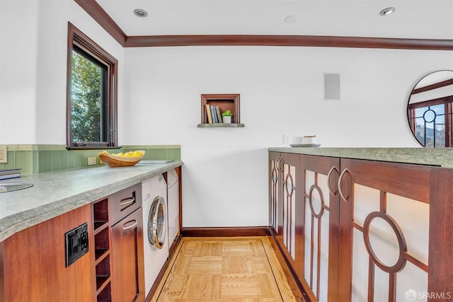
<svg viewBox="0 0 453 302"><path fill-rule="evenodd" d="M418 147L406 106L451 52L320 47L125 50L125 144L181 144L183 226L268 224L267 148L282 134L325 147ZM323 100L323 73L341 100ZM243 129L200 129L201 93L241 93Z"/></svg>

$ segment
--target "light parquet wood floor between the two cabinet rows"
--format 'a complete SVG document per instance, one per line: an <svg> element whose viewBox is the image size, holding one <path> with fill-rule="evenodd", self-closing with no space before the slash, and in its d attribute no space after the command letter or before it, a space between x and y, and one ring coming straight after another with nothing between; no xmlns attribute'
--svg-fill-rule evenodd
<svg viewBox="0 0 453 302"><path fill-rule="evenodd" d="M182 238L152 302L296 301L267 237Z"/></svg>

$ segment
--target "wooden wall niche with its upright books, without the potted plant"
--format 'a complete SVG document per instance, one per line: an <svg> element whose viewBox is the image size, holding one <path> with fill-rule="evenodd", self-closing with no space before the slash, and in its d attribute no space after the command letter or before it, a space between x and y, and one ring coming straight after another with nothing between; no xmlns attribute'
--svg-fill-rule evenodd
<svg viewBox="0 0 453 302"><path fill-rule="evenodd" d="M222 122L221 114L230 110L233 116L231 124ZM221 122L219 122L219 120ZM241 124L239 93L211 93L201 95L201 123L199 128L209 127L245 127Z"/></svg>

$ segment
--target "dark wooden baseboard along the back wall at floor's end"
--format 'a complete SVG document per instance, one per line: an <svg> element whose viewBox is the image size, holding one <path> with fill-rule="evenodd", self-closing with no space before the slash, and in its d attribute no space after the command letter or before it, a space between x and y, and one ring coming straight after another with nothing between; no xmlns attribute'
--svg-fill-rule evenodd
<svg viewBox="0 0 453 302"><path fill-rule="evenodd" d="M219 228L183 228L183 237L246 237L269 236L267 226L219 227Z"/></svg>

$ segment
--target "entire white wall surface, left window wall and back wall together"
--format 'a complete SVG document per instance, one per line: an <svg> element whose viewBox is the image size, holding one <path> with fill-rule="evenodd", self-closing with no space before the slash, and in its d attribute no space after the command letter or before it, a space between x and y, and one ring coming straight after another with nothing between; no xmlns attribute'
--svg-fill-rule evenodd
<svg viewBox="0 0 453 302"><path fill-rule="evenodd" d="M67 21L119 60L120 144L182 146L184 226L267 225L267 148L282 134L417 147L409 93L425 74L453 69L452 52L439 51L124 50L73 0L1 0L0 144L65 143ZM324 72L340 74L339 102L323 101ZM201 93L241 93L246 127L197 128Z"/></svg>

